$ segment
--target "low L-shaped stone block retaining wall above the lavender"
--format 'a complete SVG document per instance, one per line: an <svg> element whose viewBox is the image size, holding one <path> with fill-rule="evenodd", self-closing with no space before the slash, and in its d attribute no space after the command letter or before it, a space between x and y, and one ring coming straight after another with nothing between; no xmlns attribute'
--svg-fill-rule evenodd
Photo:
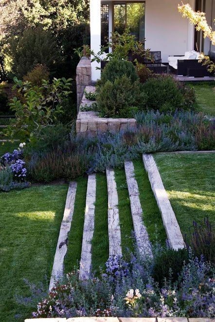
<svg viewBox="0 0 215 322"><path fill-rule="evenodd" d="M87 86L87 92L94 92L94 86ZM93 101L86 99L83 95L80 111L76 120L76 133L79 137L92 136L95 137L99 133L104 133L111 131L114 133L123 132L130 130L136 132L136 123L135 119L111 119L111 118L100 118L97 113L94 111L82 112L82 106L90 106Z"/></svg>

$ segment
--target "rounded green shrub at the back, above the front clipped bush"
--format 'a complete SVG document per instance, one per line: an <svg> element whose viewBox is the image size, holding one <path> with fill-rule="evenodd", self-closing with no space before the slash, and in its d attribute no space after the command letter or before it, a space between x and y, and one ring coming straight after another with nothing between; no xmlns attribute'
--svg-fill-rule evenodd
<svg viewBox="0 0 215 322"><path fill-rule="evenodd" d="M110 60L102 71L100 83L104 85L107 80L114 82L115 79L126 75L133 82L138 80L134 65L131 61Z"/></svg>

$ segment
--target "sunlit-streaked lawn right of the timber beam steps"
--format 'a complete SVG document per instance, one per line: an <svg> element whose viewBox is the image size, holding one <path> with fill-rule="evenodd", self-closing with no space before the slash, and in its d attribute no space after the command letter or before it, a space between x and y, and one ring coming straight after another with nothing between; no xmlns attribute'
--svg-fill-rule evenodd
<svg viewBox="0 0 215 322"><path fill-rule="evenodd" d="M215 154L156 154L161 178L182 234L193 221L215 224Z"/></svg>

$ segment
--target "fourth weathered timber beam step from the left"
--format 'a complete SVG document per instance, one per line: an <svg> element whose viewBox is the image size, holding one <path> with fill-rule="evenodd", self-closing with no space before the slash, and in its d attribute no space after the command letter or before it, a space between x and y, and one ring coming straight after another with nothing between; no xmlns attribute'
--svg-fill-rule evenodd
<svg viewBox="0 0 215 322"><path fill-rule="evenodd" d="M149 242L146 227L143 224L143 210L139 198L138 184L134 176L134 165L131 161L125 162L125 176L127 181L131 215L134 226L134 235L141 256L152 257L151 244Z"/></svg>

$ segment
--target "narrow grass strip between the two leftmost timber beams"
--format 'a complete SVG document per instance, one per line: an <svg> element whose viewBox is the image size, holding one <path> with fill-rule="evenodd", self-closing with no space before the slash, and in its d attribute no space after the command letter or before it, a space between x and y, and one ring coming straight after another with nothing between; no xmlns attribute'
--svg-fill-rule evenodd
<svg viewBox="0 0 215 322"><path fill-rule="evenodd" d="M64 259L65 273L71 272L81 259L82 237L84 229L84 215L87 193L87 177L79 178L74 203L72 226L69 233L69 245Z"/></svg>

